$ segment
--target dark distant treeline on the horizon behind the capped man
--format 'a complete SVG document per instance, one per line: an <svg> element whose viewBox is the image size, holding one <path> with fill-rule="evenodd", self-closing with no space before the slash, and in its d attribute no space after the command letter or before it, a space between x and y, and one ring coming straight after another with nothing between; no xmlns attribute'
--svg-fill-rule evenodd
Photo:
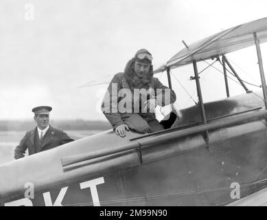
<svg viewBox="0 0 267 220"><path fill-rule="evenodd" d="M62 130L108 130L111 124L91 120L50 120L49 124ZM36 126L34 120L0 120L0 131L29 131Z"/></svg>

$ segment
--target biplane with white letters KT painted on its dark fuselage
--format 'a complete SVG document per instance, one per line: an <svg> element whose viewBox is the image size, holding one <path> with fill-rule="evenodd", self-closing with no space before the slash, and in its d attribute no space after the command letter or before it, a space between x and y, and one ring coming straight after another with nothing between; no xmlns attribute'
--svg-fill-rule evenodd
<svg viewBox="0 0 267 220"><path fill-rule="evenodd" d="M0 166L1 206L224 206L253 205L267 188L267 95L260 43L267 18L186 45L154 73L193 65L198 103L175 107L163 131L113 130ZM247 89L227 54L255 46L262 89ZM198 63L222 64L227 98L203 102ZM244 94L229 96L227 78ZM245 199L249 199L246 201Z"/></svg>

